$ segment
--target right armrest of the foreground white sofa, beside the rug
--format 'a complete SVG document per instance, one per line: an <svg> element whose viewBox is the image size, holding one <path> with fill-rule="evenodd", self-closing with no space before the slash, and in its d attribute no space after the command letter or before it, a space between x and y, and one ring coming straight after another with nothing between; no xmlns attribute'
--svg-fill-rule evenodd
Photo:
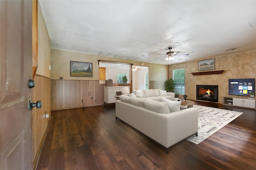
<svg viewBox="0 0 256 170"><path fill-rule="evenodd" d="M166 148L198 131L198 109L188 108L162 115L162 145Z"/></svg>

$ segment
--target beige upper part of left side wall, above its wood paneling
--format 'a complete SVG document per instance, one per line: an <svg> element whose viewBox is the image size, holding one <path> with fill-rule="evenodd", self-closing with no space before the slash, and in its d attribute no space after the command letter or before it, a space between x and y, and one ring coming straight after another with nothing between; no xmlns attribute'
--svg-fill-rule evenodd
<svg viewBox="0 0 256 170"><path fill-rule="evenodd" d="M38 68L37 75L51 78L51 71L49 70L51 57L51 42L42 14L40 3L38 3Z"/></svg>

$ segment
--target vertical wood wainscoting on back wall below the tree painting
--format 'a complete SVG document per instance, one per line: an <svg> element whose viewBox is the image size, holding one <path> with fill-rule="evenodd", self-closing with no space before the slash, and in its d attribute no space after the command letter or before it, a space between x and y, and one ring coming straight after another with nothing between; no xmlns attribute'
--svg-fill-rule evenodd
<svg viewBox="0 0 256 170"><path fill-rule="evenodd" d="M52 80L51 82L52 110L104 104L104 84L100 84L98 80Z"/></svg>

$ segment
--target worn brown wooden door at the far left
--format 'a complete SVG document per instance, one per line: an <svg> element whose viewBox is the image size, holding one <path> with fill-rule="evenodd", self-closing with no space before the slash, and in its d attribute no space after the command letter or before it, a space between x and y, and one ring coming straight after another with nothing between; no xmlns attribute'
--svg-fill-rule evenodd
<svg viewBox="0 0 256 170"><path fill-rule="evenodd" d="M32 1L0 0L1 170L32 169Z"/></svg>

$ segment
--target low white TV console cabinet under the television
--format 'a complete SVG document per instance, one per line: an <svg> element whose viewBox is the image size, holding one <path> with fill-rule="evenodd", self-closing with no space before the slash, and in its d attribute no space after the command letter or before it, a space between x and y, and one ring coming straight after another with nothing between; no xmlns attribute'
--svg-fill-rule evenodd
<svg viewBox="0 0 256 170"><path fill-rule="evenodd" d="M241 99L234 97L223 97L223 106L242 107L247 109L255 109L255 99Z"/></svg>

